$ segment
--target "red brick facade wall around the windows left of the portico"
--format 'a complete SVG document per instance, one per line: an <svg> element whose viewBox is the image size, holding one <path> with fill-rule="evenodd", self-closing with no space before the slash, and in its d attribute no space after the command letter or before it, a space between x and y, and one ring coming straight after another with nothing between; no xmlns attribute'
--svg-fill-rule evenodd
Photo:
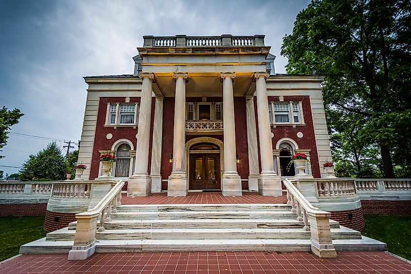
<svg viewBox="0 0 411 274"><path fill-rule="evenodd" d="M140 97L130 97L130 103L140 102ZM156 99L152 98L151 102L151 127L150 127L150 148L149 148L149 155L148 155L148 169L147 171L150 172L150 164L151 164L151 144L152 144L152 136L153 136L153 124L154 124L154 108L155 108ZM137 146L137 139L136 134L138 133L138 127L104 127L106 123L106 112L107 112L107 104L108 103L125 103L125 97L100 97L99 107L98 107L98 114L97 114L97 124L96 124L96 132L94 138L94 145L93 145L93 155L91 159L91 167L90 167L90 180L98 177L98 168L99 168L99 161L100 161L100 152L99 150L110 150L111 146L119 139L128 139L130 140L133 145L134 149ZM107 133L113 134L113 138L107 140L106 135ZM138 159L137 159L138 161Z"/></svg>

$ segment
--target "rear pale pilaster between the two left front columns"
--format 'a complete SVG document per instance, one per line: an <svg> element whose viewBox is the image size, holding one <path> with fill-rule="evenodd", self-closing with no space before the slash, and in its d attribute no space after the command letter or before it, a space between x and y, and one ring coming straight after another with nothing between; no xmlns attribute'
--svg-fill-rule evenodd
<svg viewBox="0 0 411 274"><path fill-rule="evenodd" d="M151 148L151 192L161 192L161 141L162 141L162 106L163 97L156 97L154 110L153 146Z"/></svg>

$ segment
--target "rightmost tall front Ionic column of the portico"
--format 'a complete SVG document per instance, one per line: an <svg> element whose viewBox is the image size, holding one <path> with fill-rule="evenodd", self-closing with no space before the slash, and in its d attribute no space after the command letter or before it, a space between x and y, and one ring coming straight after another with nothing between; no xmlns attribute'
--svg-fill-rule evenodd
<svg viewBox="0 0 411 274"><path fill-rule="evenodd" d="M275 174L272 155L271 126L268 117L268 99L266 72L254 73L256 79L258 133L260 141L261 175L258 180L258 192L265 196L280 196L281 179Z"/></svg>

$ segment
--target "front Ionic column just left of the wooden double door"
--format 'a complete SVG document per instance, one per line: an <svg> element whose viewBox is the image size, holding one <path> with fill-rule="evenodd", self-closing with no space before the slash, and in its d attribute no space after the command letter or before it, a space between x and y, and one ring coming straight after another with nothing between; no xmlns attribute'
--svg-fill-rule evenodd
<svg viewBox="0 0 411 274"><path fill-rule="evenodd" d="M188 180L185 172L185 82L187 73L174 73L176 95L174 105L173 171L168 177L167 196L186 196Z"/></svg>

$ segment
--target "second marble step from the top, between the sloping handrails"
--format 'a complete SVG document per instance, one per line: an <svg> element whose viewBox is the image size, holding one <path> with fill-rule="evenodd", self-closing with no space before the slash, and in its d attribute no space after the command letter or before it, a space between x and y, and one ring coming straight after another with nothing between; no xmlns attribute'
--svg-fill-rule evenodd
<svg viewBox="0 0 411 274"><path fill-rule="evenodd" d="M297 219L288 211L176 211L118 212L111 219Z"/></svg>

